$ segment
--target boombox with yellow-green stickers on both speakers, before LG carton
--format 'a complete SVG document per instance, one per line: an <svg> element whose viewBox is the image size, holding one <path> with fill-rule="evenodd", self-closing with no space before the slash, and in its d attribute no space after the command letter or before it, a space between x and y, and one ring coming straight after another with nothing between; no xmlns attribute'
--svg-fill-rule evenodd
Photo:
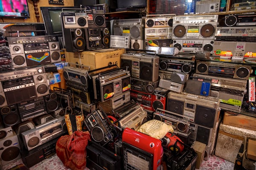
<svg viewBox="0 0 256 170"><path fill-rule="evenodd" d="M105 102L131 90L130 71L122 68L106 71L93 76L94 98Z"/></svg>

